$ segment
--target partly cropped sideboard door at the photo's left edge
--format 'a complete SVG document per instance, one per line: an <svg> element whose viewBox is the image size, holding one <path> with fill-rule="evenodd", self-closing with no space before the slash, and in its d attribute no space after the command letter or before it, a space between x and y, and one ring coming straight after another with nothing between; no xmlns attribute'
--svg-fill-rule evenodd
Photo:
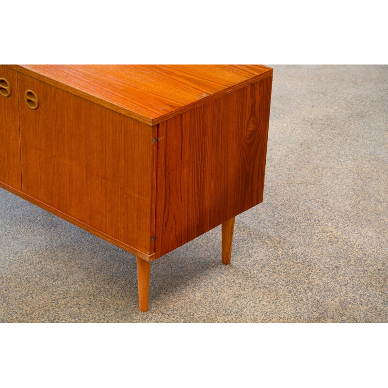
<svg viewBox="0 0 388 388"><path fill-rule="evenodd" d="M0 65L0 181L21 190L17 72Z"/></svg>

